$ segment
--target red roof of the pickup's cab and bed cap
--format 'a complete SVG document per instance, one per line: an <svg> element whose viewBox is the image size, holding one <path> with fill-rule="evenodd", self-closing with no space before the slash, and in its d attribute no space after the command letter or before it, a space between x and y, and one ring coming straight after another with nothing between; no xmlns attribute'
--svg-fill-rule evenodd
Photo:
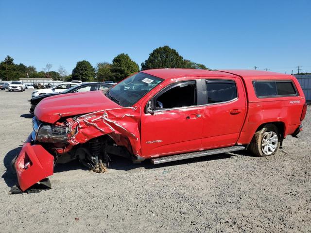
<svg viewBox="0 0 311 233"><path fill-rule="evenodd" d="M171 79L178 77L205 77L205 76L235 76L239 75L245 78L253 77L273 77L284 78L288 74L281 74L276 72L261 71L261 70L206 70L206 69L148 69L142 72L150 74L162 79Z"/></svg>

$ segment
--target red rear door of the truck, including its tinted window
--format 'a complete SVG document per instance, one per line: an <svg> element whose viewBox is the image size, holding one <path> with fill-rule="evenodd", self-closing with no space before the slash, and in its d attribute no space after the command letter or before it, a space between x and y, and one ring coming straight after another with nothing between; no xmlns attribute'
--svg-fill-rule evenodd
<svg viewBox="0 0 311 233"><path fill-rule="evenodd" d="M210 78L204 82L207 105L204 108L202 148L234 145L246 114L246 100L240 78Z"/></svg>

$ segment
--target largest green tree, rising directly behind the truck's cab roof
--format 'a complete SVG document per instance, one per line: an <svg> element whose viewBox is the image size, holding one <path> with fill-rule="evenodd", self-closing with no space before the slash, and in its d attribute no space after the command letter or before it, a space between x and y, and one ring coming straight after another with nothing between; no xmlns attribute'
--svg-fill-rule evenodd
<svg viewBox="0 0 311 233"><path fill-rule="evenodd" d="M157 68L184 68L185 62L179 53L169 46L156 48L150 54L148 59L141 63L141 69Z"/></svg>

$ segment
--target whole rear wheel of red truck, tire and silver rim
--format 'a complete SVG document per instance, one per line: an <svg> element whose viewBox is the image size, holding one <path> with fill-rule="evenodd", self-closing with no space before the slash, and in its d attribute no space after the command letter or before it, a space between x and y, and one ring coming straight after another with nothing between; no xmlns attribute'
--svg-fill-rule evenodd
<svg viewBox="0 0 311 233"><path fill-rule="evenodd" d="M254 134L249 150L256 156L274 155L280 147L280 135L274 124L266 124Z"/></svg>

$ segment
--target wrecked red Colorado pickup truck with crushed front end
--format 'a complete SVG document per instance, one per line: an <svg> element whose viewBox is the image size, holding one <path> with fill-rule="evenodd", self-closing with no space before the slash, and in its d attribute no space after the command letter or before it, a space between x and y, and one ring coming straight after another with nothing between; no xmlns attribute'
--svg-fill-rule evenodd
<svg viewBox="0 0 311 233"><path fill-rule="evenodd" d="M286 136L300 135L306 110L292 75L144 70L109 91L42 100L12 165L24 191L66 157L104 172L113 155L154 164L245 149L273 155Z"/></svg>

